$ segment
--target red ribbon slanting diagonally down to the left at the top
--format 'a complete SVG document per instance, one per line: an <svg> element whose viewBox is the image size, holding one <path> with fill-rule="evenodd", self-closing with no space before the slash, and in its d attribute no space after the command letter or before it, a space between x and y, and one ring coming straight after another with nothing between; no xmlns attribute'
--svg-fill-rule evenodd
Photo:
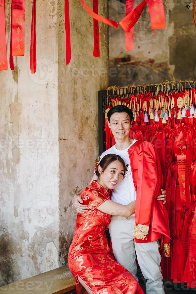
<svg viewBox="0 0 196 294"><path fill-rule="evenodd" d="M143 0L135 9L132 10L127 16L125 16L120 22L120 26L125 32L129 32L130 29L135 25L141 16L141 13L146 6L146 1Z"/></svg>

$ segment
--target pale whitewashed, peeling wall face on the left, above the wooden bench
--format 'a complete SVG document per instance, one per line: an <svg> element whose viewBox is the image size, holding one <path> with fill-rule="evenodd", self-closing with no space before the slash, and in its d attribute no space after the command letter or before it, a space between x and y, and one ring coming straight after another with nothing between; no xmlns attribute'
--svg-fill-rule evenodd
<svg viewBox="0 0 196 294"><path fill-rule="evenodd" d="M31 1L25 57L0 72L1 285L58 267L57 3L37 3L37 73L29 72ZM10 2L6 3L7 44ZM9 50L8 50L9 54Z"/></svg>

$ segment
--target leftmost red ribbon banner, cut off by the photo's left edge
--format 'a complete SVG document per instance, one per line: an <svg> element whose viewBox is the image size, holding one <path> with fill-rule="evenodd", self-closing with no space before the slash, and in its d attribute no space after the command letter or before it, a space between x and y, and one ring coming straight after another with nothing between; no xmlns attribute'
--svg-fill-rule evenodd
<svg viewBox="0 0 196 294"><path fill-rule="evenodd" d="M6 70L7 67L7 45L5 29L5 2L0 1L0 70Z"/></svg>

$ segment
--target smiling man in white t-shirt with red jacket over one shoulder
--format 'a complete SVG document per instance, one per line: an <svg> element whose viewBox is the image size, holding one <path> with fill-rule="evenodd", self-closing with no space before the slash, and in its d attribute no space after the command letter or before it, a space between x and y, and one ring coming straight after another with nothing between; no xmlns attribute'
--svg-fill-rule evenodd
<svg viewBox="0 0 196 294"><path fill-rule="evenodd" d="M133 215L129 218L114 216L111 219L109 231L112 249L116 260L128 269L134 277L136 277L137 269L136 252L142 274L147 279L146 293L163 294L165 292L162 283L158 239L163 234L169 238L169 233L167 235L166 232L167 225L165 226L161 222L163 219L160 219L164 218L162 204L166 202L165 196L163 198L166 191L162 191L163 195L157 197L158 200L163 200L163 203L153 201L153 197L157 193L155 190L160 187L160 179L157 175L159 161L156 160L151 143L133 140L129 137L132 119L132 111L126 106L118 105L108 111L108 126L111 128L116 144L103 152L101 158L109 153L117 154L123 158L126 164L126 173L121 183L114 188L111 199L121 204L128 204L136 199L137 191L136 216ZM95 175L93 179L97 179ZM81 198L75 196L74 207L77 211L83 212L87 207L80 203L82 203ZM156 219L154 219L155 215ZM142 218L144 219L142 220ZM142 221L144 221L143 224ZM161 223L164 232L162 232L162 229L159 232L159 228L152 228L156 222L158 222L158 225ZM157 232L154 232L154 230Z"/></svg>

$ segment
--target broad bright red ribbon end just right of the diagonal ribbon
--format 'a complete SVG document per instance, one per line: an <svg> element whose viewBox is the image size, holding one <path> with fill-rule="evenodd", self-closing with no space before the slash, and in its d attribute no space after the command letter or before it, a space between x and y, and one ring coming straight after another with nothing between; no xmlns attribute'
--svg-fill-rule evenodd
<svg viewBox="0 0 196 294"><path fill-rule="evenodd" d="M165 29L165 11L162 0L147 0L150 14L151 28Z"/></svg>

